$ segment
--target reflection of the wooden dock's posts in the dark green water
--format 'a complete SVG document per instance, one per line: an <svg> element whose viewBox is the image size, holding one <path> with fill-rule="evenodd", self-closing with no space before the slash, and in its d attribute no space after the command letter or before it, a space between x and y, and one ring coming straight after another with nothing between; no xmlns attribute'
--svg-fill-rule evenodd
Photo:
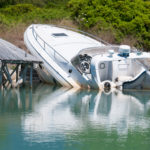
<svg viewBox="0 0 150 150"><path fill-rule="evenodd" d="M28 94L27 94L28 93ZM0 113L30 110L32 91L27 88L0 90Z"/></svg>

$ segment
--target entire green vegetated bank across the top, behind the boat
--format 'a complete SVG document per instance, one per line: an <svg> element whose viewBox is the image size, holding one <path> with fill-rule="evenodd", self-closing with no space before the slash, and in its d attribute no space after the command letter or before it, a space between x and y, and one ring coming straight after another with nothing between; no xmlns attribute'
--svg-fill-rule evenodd
<svg viewBox="0 0 150 150"><path fill-rule="evenodd" d="M112 43L150 51L149 0L0 0L0 26L73 20Z"/></svg>

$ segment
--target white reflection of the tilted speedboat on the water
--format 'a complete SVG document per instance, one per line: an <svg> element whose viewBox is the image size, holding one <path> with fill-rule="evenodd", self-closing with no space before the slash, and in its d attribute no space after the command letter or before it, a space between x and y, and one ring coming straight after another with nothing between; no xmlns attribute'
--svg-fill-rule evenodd
<svg viewBox="0 0 150 150"><path fill-rule="evenodd" d="M36 92L38 103L33 111L22 116L26 140L46 142L58 140L85 128L117 131L150 128L150 93L114 91L77 91L59 88L49 93ZM39 136L40 135L40 136ZM49 138L51 137L51 138Z"/></svg>

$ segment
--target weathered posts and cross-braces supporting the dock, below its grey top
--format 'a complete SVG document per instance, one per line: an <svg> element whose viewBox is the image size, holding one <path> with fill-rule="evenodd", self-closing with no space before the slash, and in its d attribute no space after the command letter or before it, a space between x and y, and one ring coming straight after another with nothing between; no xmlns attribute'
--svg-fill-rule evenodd
<svg viewBox="0 0 150 150"><path fill-rule="evenodd" d="M9 68L9 64L13 65ZM22 63L22 62L8 62L0 60L0 88L7 87L17 87L19 84L23 83L25 85L26 80L33 86L33 65L34 62ZM20 68L21 67L21 72ZM23 81L23 82L22 82Z"/></svg>

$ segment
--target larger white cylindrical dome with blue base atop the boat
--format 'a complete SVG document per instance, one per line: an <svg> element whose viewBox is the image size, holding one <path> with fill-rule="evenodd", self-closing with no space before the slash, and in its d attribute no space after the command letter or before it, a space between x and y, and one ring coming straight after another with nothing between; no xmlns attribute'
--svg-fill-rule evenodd
<svg viewBox="0 0 150 150"><path fill-rule="evenodd" d="M130 49L131 48L128 45L120 45L120 47L119 47L119 56L125 57L125 58L129 57Z"/></svg>

